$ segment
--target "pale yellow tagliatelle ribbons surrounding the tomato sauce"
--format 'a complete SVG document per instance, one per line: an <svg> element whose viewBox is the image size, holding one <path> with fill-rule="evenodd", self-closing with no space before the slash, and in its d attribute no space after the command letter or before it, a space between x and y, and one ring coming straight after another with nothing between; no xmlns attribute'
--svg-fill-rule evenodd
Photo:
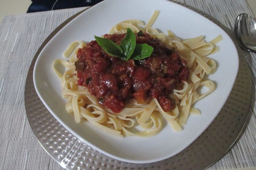
<svg viewBox="0 0 256 170"><path fill-rule="evenodd" d="M159 11L155 11L149 22L143 27L143 22L139 20L125 20L114 25L109 34L126 33L127 28L132 29L134 33L140 30L150 34L153 38L158 38L167 47L175 47L182 60L187 61L189 68L189 79L183 81L181 89L174 89L170 97L175 100L175 108L169 112L163 111L157 99L148 99L143 104L138 104L136 100L127 101L125 108L120 113L114 113L111 109L102 107L97 97L91 95L88 89L78 86L77 72L75 71L76 54L79 48L86 45L83 41L75 41L63 53L69 61L57 59L53 61L52 66L61 79L63 97L68 98L66 110L74 114L76 122L85 118L94 126L120 137L136 135L139 137L150 137L156 135L162 130L162 117L170 124L175 131L181 131L182 126L186 124L189 114L200 115L196 108L192 108L196 101L210 94L215 90L215 84L210 80L203 80L205 75L215 72L216 63L213 59L207 57L210 54L219 51L215 46L222 40L219 35L210 42L204 40L204 36L198 36L192 39L179 39L173 32L167 31L167 35L159 33L157 29L152 28ZM61 74L55 65L65 66L66 71ZM203 94L198 94L199 87L204 86L209 90ZM133 132L130 128L139 125L141 129Z"/></svg>

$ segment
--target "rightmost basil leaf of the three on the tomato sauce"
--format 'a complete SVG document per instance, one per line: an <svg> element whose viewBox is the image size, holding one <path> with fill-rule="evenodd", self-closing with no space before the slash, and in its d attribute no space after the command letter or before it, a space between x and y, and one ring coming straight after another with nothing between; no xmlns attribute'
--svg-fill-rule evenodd
<svg viewBox="0 0 256 170"><path fill-rule="evenodd" d="M153 49L154 48L148 44L136 44L132 58L134 60L142 60L150 57Z"/></svg>

